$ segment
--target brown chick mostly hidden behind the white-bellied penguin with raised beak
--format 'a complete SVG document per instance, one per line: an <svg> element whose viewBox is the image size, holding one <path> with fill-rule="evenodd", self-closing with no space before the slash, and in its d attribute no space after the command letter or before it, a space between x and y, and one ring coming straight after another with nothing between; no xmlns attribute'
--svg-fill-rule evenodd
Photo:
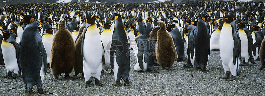
<svg viewBox="0 0 265 96"><path fill-rule="evenodd" d="M86 26L81 26L79 28L78 34L81 34L79 38L77 38L75 42L75 64L74 64L74 71L76 77L78 74L82 73L82 76L84 77L83 67L82 67L82 54L81 54L81 43L83 38L83 31L86 28Z"/></svg>

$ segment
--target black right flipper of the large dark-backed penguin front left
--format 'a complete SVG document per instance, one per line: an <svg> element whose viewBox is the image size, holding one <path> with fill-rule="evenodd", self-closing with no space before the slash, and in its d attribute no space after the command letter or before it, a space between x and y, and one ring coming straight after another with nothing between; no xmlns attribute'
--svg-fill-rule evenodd
<svg viewBox="0 0 265 96"><path fill-rule="evenodd" d="M45 50L45 48L44 48L44 46L43 46L43 43L42 43L42 41L39 41L38 42L38 47L39 47L39 52L40 52L40 54L41 54L41 56L42 56L42 60L43 60L43 63L44 63L44 74L46 74L47 73L47 54L46 54L46 50Z"/></svg>

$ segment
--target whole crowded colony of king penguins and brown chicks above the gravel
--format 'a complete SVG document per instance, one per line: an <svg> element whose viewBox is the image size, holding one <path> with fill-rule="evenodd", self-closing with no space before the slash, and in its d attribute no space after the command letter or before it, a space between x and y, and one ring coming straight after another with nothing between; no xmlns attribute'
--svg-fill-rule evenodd
<svg viewBox="0 0 265 96"><path fill-rule="evenodd" d="M264 2L35 3L3 6L1 11L0 64L8 72L3 78L21 74L28 94L35 85L37 94L45 93L47 67L55 81L61 73L74 79L72 69L75 76L82 73L85 87L92 86L92 78L96 86L104 86L100 75L110 69L112 85L130 86L129 50L137 58L134 70L141 72L158 72L154 66L173 70L175 61L206 71L210 50L220 51L226 75L219 78L228 81L241 76L240 61L247 66L260 60L259 69L265 67Z"/></svg>

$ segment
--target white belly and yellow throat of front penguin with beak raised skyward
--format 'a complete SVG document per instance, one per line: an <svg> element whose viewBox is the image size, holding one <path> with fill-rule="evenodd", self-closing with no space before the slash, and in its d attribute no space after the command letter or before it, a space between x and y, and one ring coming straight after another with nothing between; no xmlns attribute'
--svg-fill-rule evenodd
<svg viewBox="0 0 265 96"><path fill-rule="evenodd" d="M103 54L102 43L96 25L90 25L88 29L89 30L84 34L85 38L83 43L84 77L85 81L88 81L90 77L95 77L100 80Z"/></svg>

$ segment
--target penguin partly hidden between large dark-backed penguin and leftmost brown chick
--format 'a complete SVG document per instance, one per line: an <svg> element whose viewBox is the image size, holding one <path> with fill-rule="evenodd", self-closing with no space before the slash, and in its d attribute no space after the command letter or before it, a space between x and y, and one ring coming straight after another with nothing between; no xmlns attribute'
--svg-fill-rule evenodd
<svg viewBox="0 0 265 96"><path fill-rule="evenodd" d="M43 39L43 45L46 50L47 54L47 63L50 63L50 55L51 55L51 45L52 45L52 40L54 36L52 35L52 31L55 30L56 28L47 28L44 30L44 34L42 34L42 39ZM49 66L50 67L50 66Z"/></svg>

